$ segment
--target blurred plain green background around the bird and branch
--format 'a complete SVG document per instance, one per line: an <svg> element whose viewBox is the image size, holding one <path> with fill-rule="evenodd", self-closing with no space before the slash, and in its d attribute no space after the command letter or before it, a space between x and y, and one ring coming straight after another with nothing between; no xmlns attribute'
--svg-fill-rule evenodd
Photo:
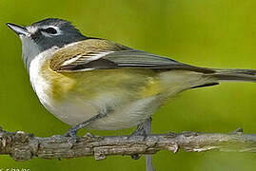
<svg viewBox="0 0 256 171"><path fill-rule="evenodd" d="M0 125L39 137L64 134L69 125L51 115L30 87L21 43L6 23L30 25L48 17L71 21L89 36L107 38L195 66L256 68L254 0L0 0ZM188 90L153 115L153 133L168 131L256 133L256 85L225 83ZM98 135L130 134L91 131ZM80 132L83 135L87 130ZM161 151L156 169L191 171L255 170L256 154ZM144 158L108 157L17 162L0 156L0 168L37 170L145 170Z"/></svg>

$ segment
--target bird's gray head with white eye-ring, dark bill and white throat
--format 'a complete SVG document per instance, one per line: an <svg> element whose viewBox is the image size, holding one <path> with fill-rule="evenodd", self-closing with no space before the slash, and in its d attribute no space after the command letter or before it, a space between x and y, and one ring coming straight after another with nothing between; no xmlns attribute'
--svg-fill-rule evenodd
<svg viewBox="0 0 256 171"><path fill-rule="evenodd" d="M85 40L86 36L68 21L48 18L28 27L7 24L22 41L23 59L27 68L31 60L40 52L52 47L64 47L70 43Z"/></svg>

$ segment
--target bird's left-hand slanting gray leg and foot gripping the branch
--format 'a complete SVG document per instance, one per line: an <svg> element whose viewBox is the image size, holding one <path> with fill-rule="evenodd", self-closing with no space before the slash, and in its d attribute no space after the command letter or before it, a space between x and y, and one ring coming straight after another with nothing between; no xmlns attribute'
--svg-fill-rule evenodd
<svg viewBox="0 0 256 171"><path fill-rule="evenodd" d="M79 129L81 129L82 127L85 127L87 125L89 125L89 123L92 123L98 119L101 119L103 117L105 117L107 114L98 114L98 115L95 115L93 117L91 117L89 120L83 122L83 123L79 123L79 124L76 124L75 126L69 128L68 132L66 132L66 134L64 135L65 137L71 137L73 139L77 139L77 136L76 136L76 133Z"/></svg>

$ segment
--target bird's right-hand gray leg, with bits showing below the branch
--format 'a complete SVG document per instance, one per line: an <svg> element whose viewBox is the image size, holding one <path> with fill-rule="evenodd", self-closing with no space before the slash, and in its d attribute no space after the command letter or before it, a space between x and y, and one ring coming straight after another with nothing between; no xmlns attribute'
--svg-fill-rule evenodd
<svg viewBox="0 0 256 171"><path fill-rule="evenodd" d="M151 133L151 117L148 118L145 123L138 125L137 129L131 134L133 135L142 135L145 138ZM132 155L132 159L139 159L139 155ZM146 155L146 169L147 171L155 171L153 167L152 155Z"/></svg>

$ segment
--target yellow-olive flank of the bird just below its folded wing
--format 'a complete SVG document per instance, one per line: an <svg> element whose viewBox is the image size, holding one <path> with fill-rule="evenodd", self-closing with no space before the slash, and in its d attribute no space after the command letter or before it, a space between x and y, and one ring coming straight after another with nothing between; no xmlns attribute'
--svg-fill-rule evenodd
<svg viewBox="0 0 256 171"><path fill-rule="evenodd" d="M56 72L49 61L41 68L49 83L53 102L74 98L87 101L106 92L128 99L142 99L161 93L158 73L151 69L118 68L80 72Z"/></svg>

